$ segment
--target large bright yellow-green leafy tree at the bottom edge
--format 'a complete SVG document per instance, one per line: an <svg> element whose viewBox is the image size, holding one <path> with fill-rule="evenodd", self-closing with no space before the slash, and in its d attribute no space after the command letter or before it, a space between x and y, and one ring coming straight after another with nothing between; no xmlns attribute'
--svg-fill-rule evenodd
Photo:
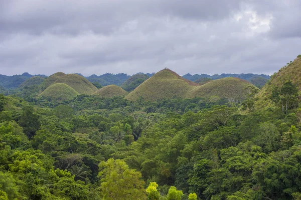
<svg viewBox="0 0 301 200"><path fill-rule="evenodd" d="M104 200L146 199L141 173L122 160L108 159L99 164L100 191Z"/></svg>

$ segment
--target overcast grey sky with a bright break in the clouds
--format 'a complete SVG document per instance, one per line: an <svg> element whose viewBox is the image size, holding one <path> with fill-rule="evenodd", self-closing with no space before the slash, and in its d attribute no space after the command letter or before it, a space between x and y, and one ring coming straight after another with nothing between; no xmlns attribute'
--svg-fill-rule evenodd
<svg viewBox="0 0 301 200"><path fill-rule="evenodd" d="M273 74L299 0L0 0L0 74Z"/></svg>

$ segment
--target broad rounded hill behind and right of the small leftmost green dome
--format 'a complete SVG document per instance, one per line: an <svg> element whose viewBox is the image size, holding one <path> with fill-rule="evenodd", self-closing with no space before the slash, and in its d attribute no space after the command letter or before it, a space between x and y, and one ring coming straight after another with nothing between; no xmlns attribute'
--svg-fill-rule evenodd
<svg viewBox="0 0 301 200"><path fill-rule="evenodd" d="M65 83L72 87L79 94L91 95L97 88L84 77L77 74L67 74L55 81L55 83Z"/></svg>

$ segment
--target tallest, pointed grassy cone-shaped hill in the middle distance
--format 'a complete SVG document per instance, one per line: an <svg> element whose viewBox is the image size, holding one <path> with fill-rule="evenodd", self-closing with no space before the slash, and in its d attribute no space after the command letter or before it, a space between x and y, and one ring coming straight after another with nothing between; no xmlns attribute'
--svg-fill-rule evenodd
<svg viewBox="0 0 301 200"><path fill-rule="evenodd" d="M135 101L143 97L145 100L155 101L173 97L185 98L187 92L196 86L197 83L184 79L169 69L164 69L130 92L126 99Z"/></svg>

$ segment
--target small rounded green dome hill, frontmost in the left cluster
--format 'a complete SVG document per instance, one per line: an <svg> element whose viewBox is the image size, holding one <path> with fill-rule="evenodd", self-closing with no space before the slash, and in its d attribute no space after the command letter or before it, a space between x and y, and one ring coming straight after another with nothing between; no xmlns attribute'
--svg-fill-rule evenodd
<svg viewBox="0 0 301 200"><path fill-rule="evenodd" d="M76 97L76 92L72 87L64 83L55 83L44 90L39 97L44 97L53 101L63 102Z"/></svg>

